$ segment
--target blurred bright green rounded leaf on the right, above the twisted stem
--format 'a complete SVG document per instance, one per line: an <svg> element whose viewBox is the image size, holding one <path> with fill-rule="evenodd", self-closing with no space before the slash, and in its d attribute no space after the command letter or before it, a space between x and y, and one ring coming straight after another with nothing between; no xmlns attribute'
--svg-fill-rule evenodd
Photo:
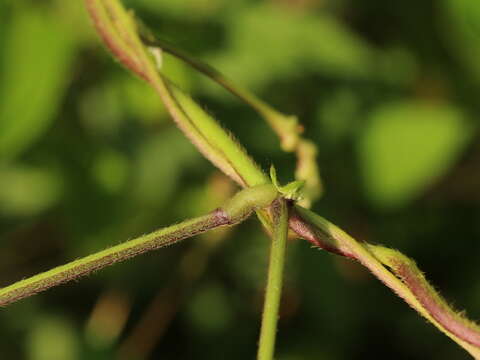
<svg viewBox="0 0 480 360"><path fill-rule="evenodd" d="M453 105L398 102L375 109L358 143L370 201L405 206L450 169L469 140L470 126Z"/></svg>

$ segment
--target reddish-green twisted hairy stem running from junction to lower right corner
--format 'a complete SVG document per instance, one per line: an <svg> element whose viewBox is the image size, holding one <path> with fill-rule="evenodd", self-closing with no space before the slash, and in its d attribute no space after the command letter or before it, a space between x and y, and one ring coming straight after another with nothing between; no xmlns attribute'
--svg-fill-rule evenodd
<svg viewBox="0 0 480 360"><path fill-rule="evenodd" d="M358 242L324 218L299 206L290 227L314 246L357 260L445 335L480 359L480 327L451 306L401 252Z"/></svg>

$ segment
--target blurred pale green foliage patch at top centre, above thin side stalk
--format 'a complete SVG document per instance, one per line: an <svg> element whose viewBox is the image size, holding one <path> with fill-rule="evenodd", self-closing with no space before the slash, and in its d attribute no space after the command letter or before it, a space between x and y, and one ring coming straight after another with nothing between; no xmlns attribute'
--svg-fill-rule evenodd
<svg viewBox="0 0 480 360"><path fill-rule="evenodd" d="M294 77L302 68L352 78L373 71L374 50L328 13L310 16L261 4L232 12L225 21L229 46L209 62L250 89ZM269 51L263 51L265 44Z"/></svg>

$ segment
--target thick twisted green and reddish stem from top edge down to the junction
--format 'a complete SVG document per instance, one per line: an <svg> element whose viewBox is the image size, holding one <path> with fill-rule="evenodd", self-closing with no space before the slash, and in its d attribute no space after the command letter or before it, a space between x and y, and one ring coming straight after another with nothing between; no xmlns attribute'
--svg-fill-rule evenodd
<svg viewBox="0 0 480 360"><path fill-rule="evenodd" d="M233 136L159 72L159 64L140 40L136 21L119 0L84 1L105 45L150 83L180 130L207 159L242 187L268 183Z"/></svg>

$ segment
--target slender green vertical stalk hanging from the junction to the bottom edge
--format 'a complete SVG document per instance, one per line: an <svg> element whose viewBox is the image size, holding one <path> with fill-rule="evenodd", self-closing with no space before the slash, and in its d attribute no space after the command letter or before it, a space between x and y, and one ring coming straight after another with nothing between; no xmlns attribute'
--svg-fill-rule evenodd
<svg viewBox="0 0 480 360"><path fill-rule="evenodd" d="M274 230L270 249L268 283L263 307L258 360L273 359L287 246L288 209L285 200L277 199L272 204L271 209Z"/></svg>

